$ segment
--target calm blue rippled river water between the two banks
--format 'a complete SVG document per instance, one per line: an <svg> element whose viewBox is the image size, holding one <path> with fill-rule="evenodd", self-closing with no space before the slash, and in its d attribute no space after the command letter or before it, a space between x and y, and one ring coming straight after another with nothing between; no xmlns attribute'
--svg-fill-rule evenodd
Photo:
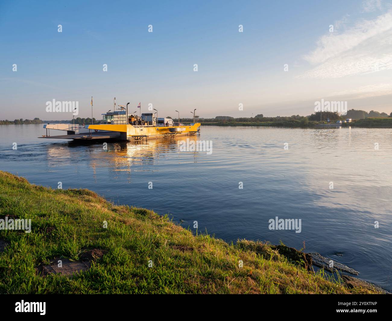
<svg viewBox="0 0 392 321"><path fill-rule="evenodd" d="M198 221L199 231L225 241L305 242L306 252L392 290L391 129L202 126L200 137L187 138L211 140L211 155L180 151L184 137L109 143L105 151L102 144L38 139L42 125L2 125L0 134L0 169L34 184L88 188L170 213L192 230ZM301 219L301 233L269 230L276 216Z"/></svg>

